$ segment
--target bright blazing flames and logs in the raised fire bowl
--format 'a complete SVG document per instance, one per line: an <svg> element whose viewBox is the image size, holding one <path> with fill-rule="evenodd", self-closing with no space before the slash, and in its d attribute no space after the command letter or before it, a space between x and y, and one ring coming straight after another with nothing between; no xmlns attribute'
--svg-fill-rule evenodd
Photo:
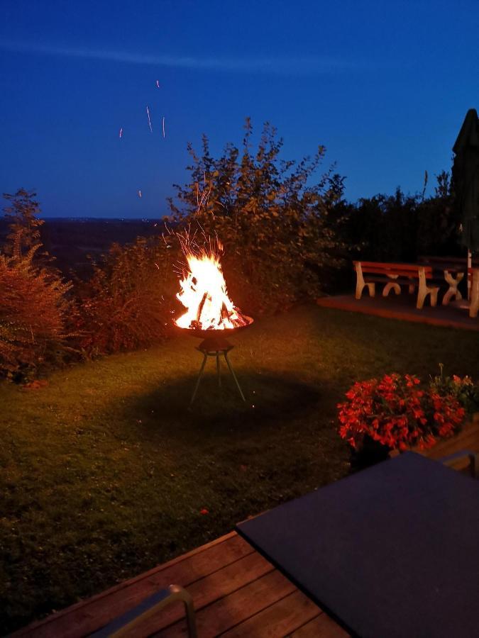
<svg viewBox="0 0 479 638"><path fill-rule="evenodd" d="M176 325L191 330L231 330L251 323L228 296L218 251L189 249L185 257L189 271L180 279L177 298L187 310L175 320Z"/></svg>

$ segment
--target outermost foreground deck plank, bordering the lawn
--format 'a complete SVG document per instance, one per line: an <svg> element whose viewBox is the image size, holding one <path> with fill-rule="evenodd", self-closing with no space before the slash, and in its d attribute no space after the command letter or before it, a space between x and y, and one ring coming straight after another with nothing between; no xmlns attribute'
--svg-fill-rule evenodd
<svg viewBox="0 0 479 638"><path fill-rule="evenodd" d="M143 598L172 583L189 586L228 564L253 554L254 550L236 532L215 539L188 554L150 569L92 598L34 622L13 634L15 638L81 638L106 625Z"/></svg>

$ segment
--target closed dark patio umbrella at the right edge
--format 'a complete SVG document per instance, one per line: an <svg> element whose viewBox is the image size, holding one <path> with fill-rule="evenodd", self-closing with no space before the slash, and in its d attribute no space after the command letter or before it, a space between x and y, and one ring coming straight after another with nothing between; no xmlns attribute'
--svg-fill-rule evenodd
<svg viewBox="0 0 479 638"><path fill-rule="evenodd" d="M471 253L479 252L479 118L475 108L466 113L453 152L453 189L462 221L461 241L468 249L469 269ZM468 279L468 297L469 291Z"/></svg>

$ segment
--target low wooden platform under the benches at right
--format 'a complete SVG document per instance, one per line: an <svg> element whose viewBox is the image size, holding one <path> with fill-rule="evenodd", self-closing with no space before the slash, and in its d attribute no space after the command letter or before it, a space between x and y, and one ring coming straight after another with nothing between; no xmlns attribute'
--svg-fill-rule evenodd
<svg viewBox="0 0 479 638"><path fill-rule="evenodd" d="M407 293L401 293L399 296L390 294L387 297L379 294L373 298L363 294L360 299L350 294L321 297L316 300L316 303L324 308L350 310L354 313L376 315L387 319L428 323L446 328L479 330L479 318L470 318L468 310L459 308L454 305L454 302L451 302L449 306L441 306L438 303L436 308L424 306L422 310L417 310L415 301L416 297Z"/></svg>

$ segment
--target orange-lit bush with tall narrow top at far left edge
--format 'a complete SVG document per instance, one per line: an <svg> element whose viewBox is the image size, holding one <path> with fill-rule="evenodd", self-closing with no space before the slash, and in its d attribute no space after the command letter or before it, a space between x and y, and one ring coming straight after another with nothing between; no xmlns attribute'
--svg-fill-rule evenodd
<svg viewBox="0 0 479 638"><path fill-rule="evenodd" d="M9 222L0 254L0 374L21 378L65 352L70 284L41 254L42 220L34 193L4 194Z"/></svg>

